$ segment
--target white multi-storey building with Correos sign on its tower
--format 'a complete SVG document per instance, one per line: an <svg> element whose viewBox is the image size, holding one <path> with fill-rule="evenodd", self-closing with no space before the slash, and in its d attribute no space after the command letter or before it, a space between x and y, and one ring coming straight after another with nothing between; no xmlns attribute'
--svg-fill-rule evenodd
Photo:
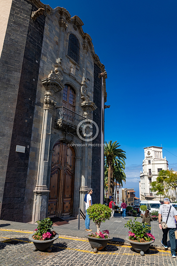
<svg viewBox="0 0 177 266"><path fill-rule="evenodd" d="M151 192L151 182L156 181L160 170L168 170L168 161L163 158L162 147L144 148L143 172L140 173L140 200L160 200L160 195Z"/></svg>

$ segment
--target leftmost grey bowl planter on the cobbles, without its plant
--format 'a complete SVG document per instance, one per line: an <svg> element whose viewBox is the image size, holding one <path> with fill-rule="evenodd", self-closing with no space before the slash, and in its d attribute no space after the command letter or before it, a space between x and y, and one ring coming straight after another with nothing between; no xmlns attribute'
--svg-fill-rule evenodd
<svg viewBox="0 0 177 266"><path fill-rule="evenodd" d="M33 244L35 245L35 248L33 248L33 251L36 251L37 249L40 250L40 251L43 251L43 250L46 250L48 252L51 252L51 248L50 246L53 244L53 242L59 237L59 235L57 234L54 238L52 239L49 239L49 240L35 240L32 238L32 236L34 235L35 233L29 235L28 239L33 242Z"/></svg>

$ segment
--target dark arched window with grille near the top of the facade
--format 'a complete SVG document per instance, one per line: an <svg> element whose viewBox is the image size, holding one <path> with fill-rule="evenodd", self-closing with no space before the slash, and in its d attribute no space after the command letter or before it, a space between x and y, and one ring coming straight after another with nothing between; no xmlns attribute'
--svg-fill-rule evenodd
<svg viewBox="0 0 177 266"><path fill-rule="evenodd" d="M68 55L79 64L80 45L74 34L69 35Z"/></svg>

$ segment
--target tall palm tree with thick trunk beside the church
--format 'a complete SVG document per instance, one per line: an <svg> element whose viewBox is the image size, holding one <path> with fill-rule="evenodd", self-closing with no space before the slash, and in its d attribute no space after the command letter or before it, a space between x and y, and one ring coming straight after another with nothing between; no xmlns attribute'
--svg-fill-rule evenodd
<svg viewBox="0 0 177 266"><path fill-rule="evenodd" d="M105 141L105 162L108 166L108 198L113 196L114 193L114 180L113 176L115 176L115 165L116 171L119 170L119 165L125 166L125 151L118 148L121 145L118 145L117 141L110 140L108 143Z"/></svg>

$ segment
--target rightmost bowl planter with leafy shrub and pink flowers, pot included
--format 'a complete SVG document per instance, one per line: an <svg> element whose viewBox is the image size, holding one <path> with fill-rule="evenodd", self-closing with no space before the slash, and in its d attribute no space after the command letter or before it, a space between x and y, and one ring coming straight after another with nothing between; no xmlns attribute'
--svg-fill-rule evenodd
<svg viewBox="0 0 177 266"><path fill-rule="evenodd" d="M150 244L155 241L155 237L148 233L149 227L141 222L136 221L137 217L132 222L130 219L124 227L127 227L130 231L128 236L125 238L130 242L132 248L140 253L141 256L144 255L144 252L148 250Z"/></svg>

